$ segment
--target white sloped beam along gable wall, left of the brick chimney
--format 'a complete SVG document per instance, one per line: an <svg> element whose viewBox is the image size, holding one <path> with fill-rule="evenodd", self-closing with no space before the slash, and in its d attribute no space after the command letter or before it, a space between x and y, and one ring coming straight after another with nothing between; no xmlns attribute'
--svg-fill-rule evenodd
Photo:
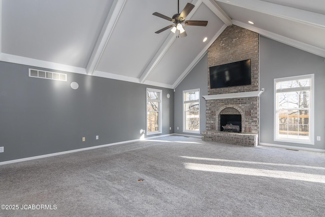
<svg viewBox="0 0 325 217"><path fill-rule="evenodd" d="M202 49L202 51L197 55L192 63L185 69L185 71L178 77L178 79L173 84L173 89L175 89L182 80L190 73L190 71L199 63L202 57L208 52L208 48L213 44L213 42L221 35L223 30L227 27L227 24L224 24L219 31L214 35L214 37L209 41L209 43Z"/></svg>

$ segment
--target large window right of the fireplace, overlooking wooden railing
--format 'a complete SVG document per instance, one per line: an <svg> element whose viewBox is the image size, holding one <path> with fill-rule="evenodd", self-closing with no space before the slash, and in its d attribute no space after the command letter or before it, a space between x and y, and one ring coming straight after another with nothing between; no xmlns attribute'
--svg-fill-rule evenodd
<svg viewBox="0 0 325 217"><path fill-rule="evenodd" d="M314 75L274 79L275 140L314 144Z"/></svg>

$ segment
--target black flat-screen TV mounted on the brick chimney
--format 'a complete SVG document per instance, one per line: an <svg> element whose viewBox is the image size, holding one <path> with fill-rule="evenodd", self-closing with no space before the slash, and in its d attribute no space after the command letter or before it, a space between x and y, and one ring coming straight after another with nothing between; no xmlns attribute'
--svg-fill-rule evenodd
<svg viewBox="0 0 325 217"><path fill-rule="evenodd" d="M251 84L250 59L213 66L209 71L211 89Z"/></svg>

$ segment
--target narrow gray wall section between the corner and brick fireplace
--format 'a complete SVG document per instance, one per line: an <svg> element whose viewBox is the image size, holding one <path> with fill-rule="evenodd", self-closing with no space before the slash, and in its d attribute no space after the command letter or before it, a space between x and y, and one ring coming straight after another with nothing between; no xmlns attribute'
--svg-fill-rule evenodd
<svg viewBox="0 0 325 217"><path fill-rule="evenodd" d="M183 90L200 88L200 131L206 129L206 104L202 96L208 95L208 54L190 71L175 89L175 133L196 135L183 132ZM177 130L177 127L179 130Z"/></svg>

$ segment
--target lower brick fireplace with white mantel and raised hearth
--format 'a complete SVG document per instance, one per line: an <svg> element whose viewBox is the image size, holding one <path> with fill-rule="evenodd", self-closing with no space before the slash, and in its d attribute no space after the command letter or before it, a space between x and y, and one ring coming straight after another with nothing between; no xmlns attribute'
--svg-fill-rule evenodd
<svg viewBox="0 0 325 217"><path fill-rule="evenodd" d="M206 131L202 132L202 139L205 141L256 146L258 144L259 128L258 105L261 94L262 91L250 91L204 96L207 106L207 121ZM239 133L222 131L222 115L240 115L241 131Z"/></svg>

